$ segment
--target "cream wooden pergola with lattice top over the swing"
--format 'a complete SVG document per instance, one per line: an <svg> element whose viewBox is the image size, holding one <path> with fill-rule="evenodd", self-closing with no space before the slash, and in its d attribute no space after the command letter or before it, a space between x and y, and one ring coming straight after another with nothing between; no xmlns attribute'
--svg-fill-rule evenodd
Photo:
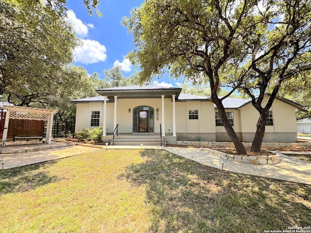
<svg viewBox="0 0 311 233"><path fill-rule="evenodd" d="M57 110L31 108L14 105L2 105L3 110L6 110L4 130L2 134L2 147L5 147L7 139L8 126L10 119L28 119L28 120L44 120L47 121L46 142L51 144L53 115Z"/></svg>

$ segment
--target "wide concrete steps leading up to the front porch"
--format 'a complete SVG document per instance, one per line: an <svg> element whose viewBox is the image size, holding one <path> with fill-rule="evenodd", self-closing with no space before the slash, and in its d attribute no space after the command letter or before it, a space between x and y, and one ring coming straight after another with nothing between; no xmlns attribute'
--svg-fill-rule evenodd
<svg viewBox="0 0 311 233"><path fill-rule="evenodd" d="M136 145L140 146L143 144L160 146L160 134L119 134L114 139L114 145ZM162 138L163 145L163 138Z"/></svg>

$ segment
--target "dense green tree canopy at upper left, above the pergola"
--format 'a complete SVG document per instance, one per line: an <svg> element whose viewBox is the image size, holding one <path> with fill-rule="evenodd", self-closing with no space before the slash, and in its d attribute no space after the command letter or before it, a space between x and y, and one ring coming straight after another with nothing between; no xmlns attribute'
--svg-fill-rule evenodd
<svg viewBox="0 0 311 233"><path fill-rule="evenodd" d="M24 22L24 10L0 2L0 95L27 106L71 82L64 72L79 41L63 17L41 11Z"/></svg>

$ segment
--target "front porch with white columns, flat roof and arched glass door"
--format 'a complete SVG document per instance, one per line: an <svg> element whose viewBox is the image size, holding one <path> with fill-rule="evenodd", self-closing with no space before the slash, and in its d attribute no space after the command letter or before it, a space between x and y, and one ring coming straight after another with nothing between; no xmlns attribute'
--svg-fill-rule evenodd
<svg viewBox="0 0 311 233"><path fill-rule="evenodd" d="M180 94L180 88L161 87L155 89L154 86L144 88L128 86L125 89L116 87L96 91L104 97L102 106L103 137L107 136L107 129L111 129L111 126L107 126L108 121L112 119L113 129L120 124L121 133L161 133L162 137L166 133L165 123L169 120L171 133L176 137L175 100ZM113 105L110 105L110 109L107 111L108 102ZM107 112L110 113L111 118L107 116ZM99 122L100 119L97 124Z"/></svg>

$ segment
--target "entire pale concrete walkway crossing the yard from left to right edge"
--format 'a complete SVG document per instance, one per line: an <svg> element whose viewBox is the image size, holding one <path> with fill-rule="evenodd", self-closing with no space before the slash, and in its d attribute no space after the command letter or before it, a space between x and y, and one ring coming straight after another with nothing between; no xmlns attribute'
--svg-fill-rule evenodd
<svg viewBox="0 0 311 233"><path fill-rule="evenodd" d="M105 146L86 147L81 145L50 150L39 150L26 153L0 154L0 160L5 159L4 169L40 163L48 160L65 158L81 153L105 149ZM198 163L222 169L221 158L209 154L200 148L160 147L160 146L108 146L108 150L115 149L162 149L194 160ZM282 152L282 151L281 151ZM295 153L295 152L291 152ZM280 153L281 163L276 165L250 165L226 161L224 170L247 175L261 176L278 180L311 184L311 163L295 159Z"/></svg>

